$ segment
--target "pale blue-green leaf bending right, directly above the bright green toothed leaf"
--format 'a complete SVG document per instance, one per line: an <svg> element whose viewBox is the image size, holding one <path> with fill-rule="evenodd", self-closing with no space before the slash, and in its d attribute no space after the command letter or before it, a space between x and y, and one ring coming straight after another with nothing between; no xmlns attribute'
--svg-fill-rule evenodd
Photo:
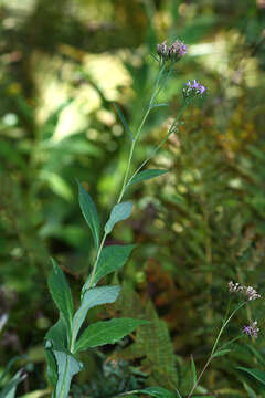
<svg viewBox="0 0 265 398"><path fill-rule="evenodd" d="M85 321L87 311L96 305L114 303L119 295L120 286L103 286L89 289L85 292L81 307L74 315L72 342L75 342L80 328Z"/></svg>

